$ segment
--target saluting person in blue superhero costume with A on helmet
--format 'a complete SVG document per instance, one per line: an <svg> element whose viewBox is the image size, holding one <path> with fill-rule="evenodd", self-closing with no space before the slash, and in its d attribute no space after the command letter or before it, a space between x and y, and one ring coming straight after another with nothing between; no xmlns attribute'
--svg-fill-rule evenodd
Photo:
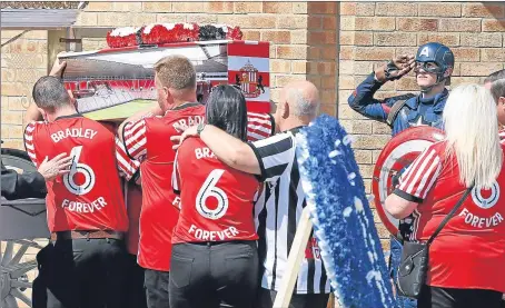
<svg viewBox="0 0 505 308"><path fill-rule="evenodd" d="M372 72L348 98L349 107L373 120L387 123L392 136L416 126L442 128L442 112L448 97L445 88L450 85L454 68L454 54L442 43L428 42L417 49L416 56L403 54ZM416 82L420 93L378 100L374 98L384 83L397 80L412 69L416 73ZM408 239L412 234L412 217L399 223L399 237ZM402 242L392 235L389 271L396 278L402 256ZM403 308L414 308L413 299L400 298Z"/></svg>

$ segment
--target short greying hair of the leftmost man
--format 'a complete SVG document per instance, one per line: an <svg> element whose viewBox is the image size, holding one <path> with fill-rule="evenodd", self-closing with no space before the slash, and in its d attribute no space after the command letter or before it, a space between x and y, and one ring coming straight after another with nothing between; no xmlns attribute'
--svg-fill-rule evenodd
<svg viewBox="0 0 505 308"><path fill-rule="evenodd" d="M44 76L37 80L31 96L37 107L49 112L70 103L70 96L63 82L53 76Z"/></svg>

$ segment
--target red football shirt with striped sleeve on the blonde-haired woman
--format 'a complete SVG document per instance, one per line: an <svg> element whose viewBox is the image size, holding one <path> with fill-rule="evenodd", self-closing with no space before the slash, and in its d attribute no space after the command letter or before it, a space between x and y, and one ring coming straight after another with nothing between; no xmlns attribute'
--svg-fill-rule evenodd
<svg viewBox="0 0 505 308"><path fill-rule="evenodd" d="M418 202L410 240L426 242L466 187L447 142L429 146L402 175L397 196ZM505 146L502 145L502 149ZM478 162L476 162L478 163ZM505 169L491 189L475 187L429 247L427 285L505 291Z"/></svg>

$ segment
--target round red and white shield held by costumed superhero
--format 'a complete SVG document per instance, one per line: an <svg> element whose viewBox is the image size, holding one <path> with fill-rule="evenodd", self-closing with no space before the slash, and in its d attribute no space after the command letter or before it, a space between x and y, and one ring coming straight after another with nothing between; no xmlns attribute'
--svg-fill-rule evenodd
<svg viewBox="0 0 505 308"><path fill-rule="evenodd" d="M413 127L395 136L380 152L374 169L372 192L380 220L387 230L398 234L398 219L384 209L386 197L393 192L402 172L417 156L434 142L440 141L444 132L433 127Z"/></svg>

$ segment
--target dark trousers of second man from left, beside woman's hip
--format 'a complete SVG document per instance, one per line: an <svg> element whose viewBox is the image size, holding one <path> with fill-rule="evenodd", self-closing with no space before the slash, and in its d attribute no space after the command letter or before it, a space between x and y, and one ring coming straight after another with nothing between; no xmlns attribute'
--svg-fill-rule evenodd
<svg viewBox="0 0 505 308"><path fill-rule="evenodd" d="M145 271L146 298L149 308L169 308L168 271L146 269Z"/></svg>

